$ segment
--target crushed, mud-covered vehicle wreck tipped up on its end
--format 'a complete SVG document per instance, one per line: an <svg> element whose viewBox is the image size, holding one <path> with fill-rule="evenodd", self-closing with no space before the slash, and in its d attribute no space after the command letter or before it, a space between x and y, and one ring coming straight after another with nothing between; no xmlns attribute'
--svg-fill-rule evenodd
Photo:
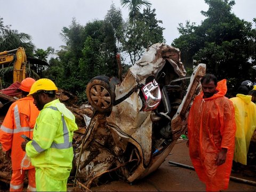
<svg viewBox="0 0 256 192"><path fill-rule="evenodd" d="M205 68L199 64L187 77L179 49L157 43L122 82L92 78L86 94L94 112L74 150L75 178L90 188L108 176L133 182L155 171L186 130Z"/></svg>

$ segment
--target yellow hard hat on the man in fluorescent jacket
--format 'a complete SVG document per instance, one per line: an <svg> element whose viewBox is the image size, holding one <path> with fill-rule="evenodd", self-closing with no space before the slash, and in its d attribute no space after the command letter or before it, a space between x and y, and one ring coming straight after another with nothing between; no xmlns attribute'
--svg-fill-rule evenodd
<svg viewBox="0 0 256 192"><path fill-rule="evenodd" d="M57 86L51 81L50 79L47 78L42 78L37 80L32 86L29 91L28 96L31 96L38 91L58 91Z"/></svg>

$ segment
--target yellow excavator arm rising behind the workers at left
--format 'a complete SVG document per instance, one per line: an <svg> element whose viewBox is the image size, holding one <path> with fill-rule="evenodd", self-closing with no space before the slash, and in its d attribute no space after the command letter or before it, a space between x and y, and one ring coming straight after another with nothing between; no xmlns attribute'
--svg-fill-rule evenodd
<svg viewBox="0 0 256 192"><path fill-rule="evenodd" d="M13 83L21 82L26 78L27 56L25 49L18 49L0 52L0 65L13 62Z"/></svg>

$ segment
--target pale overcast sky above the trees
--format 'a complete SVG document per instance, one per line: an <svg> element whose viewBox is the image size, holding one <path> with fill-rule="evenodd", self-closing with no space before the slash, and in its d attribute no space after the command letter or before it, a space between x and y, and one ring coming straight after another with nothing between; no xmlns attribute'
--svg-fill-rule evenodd
<svg viewBox="0 0 256 192"><path fill-rule="evenodd" d="M119 0L0 0L0 17L4 25L12 25L19 33L32 36L37 48L47 49L52 46L60 50L65 45L60 33L63 27L70 26L72 18L81 25L94 19L104 19L112 3L121 8L123 19L128 18L128 10L120 5ZM156 18L162 20L164 38L167 44L179 37L178 23L186 20L201 23L205 17L200 13L207 11L204 0L149 0L151 9L156 9ZM235 0L233 12L240 19L252 22L256 17L256 0ZM142 11L142 10L141 10ZM255 27L255 26L254 26Z"/></svg>

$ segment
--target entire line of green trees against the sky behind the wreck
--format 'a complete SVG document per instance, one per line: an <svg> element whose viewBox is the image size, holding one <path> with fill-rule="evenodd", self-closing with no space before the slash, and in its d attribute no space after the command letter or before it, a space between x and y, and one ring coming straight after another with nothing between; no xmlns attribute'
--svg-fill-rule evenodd
<svg viewBox="0 0 256 192"><path fill-rule="evenodd" d="M121 0L129 9L129 18L123 20L122 11L114 4L103 20L92 20L81 25L75 18L63 27L60 38L63 45L57 57L49 60L44 76L58 87L85 98L85 87L97 75L117 76L116 54L121 54L122 65L134 65L150 45L165 42L162 21L149 1ZM172 45L181 51L181 61L189 70L197 63L206 63L207 73L227 78L229 86L239 81L254 79L256 65L256 19L248 22L233 12L234 0L205 0L209 9L201 11L205 19L179 23L180 36ZM143 8L143 10L142 10ZM46 60L54 52L35 49L29 34L19 33L4 25L0 17L0 51L25 47L29 56ZM128 56L127 56L128 55ZM126 59L128 58L128 59ZM129 66L128 66L129 67ZM239 77L239 79L237 78Z"/></svg>

